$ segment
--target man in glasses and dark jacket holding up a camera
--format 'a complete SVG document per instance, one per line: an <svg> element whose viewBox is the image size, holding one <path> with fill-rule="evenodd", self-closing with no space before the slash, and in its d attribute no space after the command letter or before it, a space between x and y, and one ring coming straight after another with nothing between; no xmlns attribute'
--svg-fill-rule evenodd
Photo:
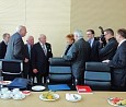
<svg viewBox="0 0 126 107"><path fill-rule="evenodd" d="M117 49L117 40L114 38L114 32L111 28L107 28L104 31L104 37L106 40L106 45L103 46L103 41L100 40L100 47L99 47L99 56L100 60L111 60L113 56L115 55L115 51Z"/></svg>

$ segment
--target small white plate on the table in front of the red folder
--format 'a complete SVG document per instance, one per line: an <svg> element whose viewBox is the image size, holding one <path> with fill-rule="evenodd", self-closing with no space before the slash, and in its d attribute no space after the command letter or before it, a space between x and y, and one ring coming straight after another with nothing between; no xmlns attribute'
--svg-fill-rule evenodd
<svg viewBox="0 0 126 107"><path fill-rule="evenodd" d="M79 102L79 100L81 100L81 95L79 95L79 94L66 94L66 99L68 102Z"/></svg>

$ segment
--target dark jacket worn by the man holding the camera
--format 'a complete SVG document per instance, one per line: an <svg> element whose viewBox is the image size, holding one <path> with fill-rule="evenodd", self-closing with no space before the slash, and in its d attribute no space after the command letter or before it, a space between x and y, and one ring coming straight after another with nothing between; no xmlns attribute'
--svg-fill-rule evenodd
<svg viewBox="0 0 126 107"><path fill-rule="evenodd" d="M104 47L100 45L99 56L100 56L101 61L106 60L106 59L111 60L113 56L115 55L117 45L118 45L117 40L114 37L112 37Z"/></svg>

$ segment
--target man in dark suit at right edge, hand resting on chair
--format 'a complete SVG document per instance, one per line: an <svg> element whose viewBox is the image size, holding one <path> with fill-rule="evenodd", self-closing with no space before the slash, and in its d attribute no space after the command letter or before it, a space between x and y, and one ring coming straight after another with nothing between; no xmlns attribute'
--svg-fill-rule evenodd
<svg viewBox="0 0 126 107"><path fill-rule="evenodd" d="M119 43L117 51L113 59L105 60L112 68L112 85L113 90L126 91L126 29L121 28L117 31L116 39Z"/></svg>

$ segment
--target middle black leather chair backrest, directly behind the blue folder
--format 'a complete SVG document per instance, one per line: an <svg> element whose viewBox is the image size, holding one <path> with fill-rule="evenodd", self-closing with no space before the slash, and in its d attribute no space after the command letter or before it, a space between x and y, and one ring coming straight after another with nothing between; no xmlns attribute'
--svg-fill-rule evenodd
<svg viewBox="0 0 126 107"><path fill-rule="evenodd" d="M49 59L49 83L72 83L71 64L62 58Z"/></svg>

